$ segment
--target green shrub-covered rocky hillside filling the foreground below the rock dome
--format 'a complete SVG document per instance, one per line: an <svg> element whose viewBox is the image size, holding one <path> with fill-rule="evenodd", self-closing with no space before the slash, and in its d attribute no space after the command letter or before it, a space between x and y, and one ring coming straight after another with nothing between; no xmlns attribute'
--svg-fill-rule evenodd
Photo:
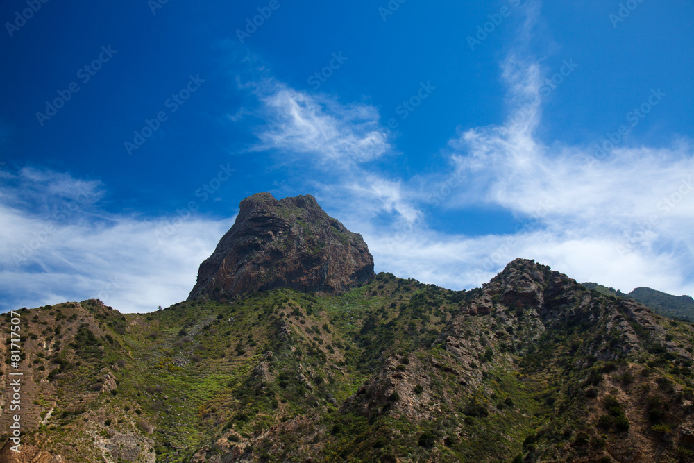
<svg viewBox="0 0 694 463"><path fill-rule="evenodd" d="M516 260L468 292L380 273L335 296L276 289L151 314L120 314L99 301L20 313L31 385L27 458L694 455L691 323L591 292L532 261ZM2 371L4 381L7 364Z"/></svg>

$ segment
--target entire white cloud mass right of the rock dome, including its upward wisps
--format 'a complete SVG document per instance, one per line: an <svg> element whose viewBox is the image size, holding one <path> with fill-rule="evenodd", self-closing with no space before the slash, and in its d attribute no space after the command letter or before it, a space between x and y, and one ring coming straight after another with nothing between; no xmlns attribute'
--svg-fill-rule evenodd
<svg viewBox="0 0 694 463"><path fill-rule="evenodd" d="M384 271L466 288L525 257L625 292L650 285L694 293L688 233L694 191L673 207L663 203L691 182L691 146L680 140L666 149L623 147L598 161L589 146L543 144L536 137L543 99L561 85L548 85L548 69L524 50L537 14L530 8L521 45L502 62L507 121L453 138L452 174L393 178L367 162L393 151L374 108L344 106L271 78L250 86L269 122L259 128L255 149L289 153L303 165L318 162L323 172L298 179L294 190L310 185L319 192L328 211L364 235ZM382 144L355 155L372 133ZM444 208L464 217L473 207L511 212L518 217L516 233L478 237L430 229L428 219ZM652 217L654 226L648 225Z"/></svg>

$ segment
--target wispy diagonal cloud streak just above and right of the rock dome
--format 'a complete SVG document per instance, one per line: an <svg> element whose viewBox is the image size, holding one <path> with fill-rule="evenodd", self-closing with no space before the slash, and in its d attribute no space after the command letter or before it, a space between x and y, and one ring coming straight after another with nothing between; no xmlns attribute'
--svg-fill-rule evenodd
<svg viewBox="0 0 694 463"><path fill-rule="evenodd" d="M242 114L237 111L230 120L250 114L259 117L264 124L254 128L258 142L248 151L269 153L277 165L302 167L301 178L278 194L308 188L354 221L378 216L397 222L416 220L420 211L403 180L372 165L400 155L380 123L378 109L291 88L269 76L258 60L244 55L252 69L245 81L237 77L239 89L252 94L257 107L244 108Z"/></svg>

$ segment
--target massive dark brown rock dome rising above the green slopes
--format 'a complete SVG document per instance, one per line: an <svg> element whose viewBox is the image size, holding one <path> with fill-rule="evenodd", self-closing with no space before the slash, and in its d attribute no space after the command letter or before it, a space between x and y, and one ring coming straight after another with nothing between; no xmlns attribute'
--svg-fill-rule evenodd
<svg viewBox="0 0 694 463"><path fill-rule="evenodd" d="M362 235L328 217L313 196L258 193L241 201L236 223L201 264L189 300L278 287L335 293L372 278Z"/></svg>

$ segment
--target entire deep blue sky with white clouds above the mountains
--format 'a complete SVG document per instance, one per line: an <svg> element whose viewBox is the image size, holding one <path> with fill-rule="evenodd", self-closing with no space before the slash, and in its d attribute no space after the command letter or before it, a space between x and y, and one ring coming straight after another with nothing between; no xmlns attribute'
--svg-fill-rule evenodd
<svg viewBox="0 0 694 463"><path fill-rule="evenodd" d="M376 271L425 283L524 257L694 294L691 1L8 0L0 19L0 310L183 300L260 191L313 194Z"/></svg>

